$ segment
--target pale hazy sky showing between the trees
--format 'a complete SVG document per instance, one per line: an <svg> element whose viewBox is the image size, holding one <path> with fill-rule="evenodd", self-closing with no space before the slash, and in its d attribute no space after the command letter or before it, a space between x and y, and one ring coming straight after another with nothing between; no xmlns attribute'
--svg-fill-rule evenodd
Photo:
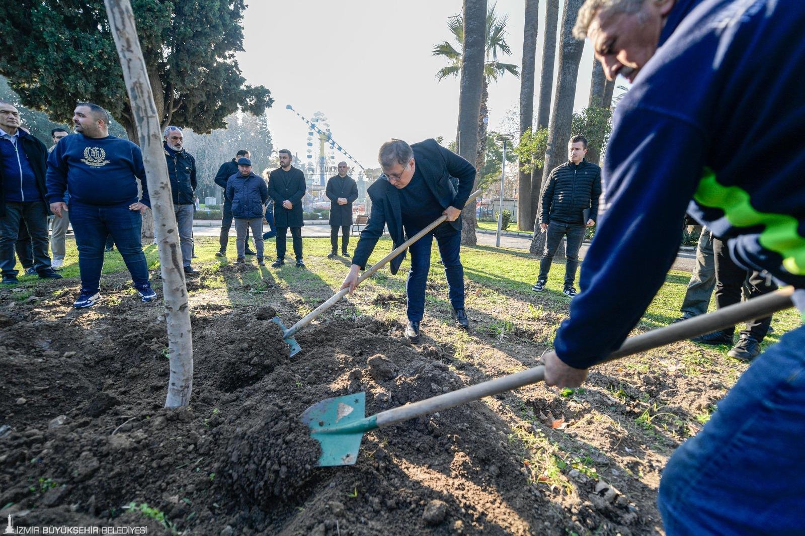
<svg viewBox="0 0 805 536"><path fill-rule="evenodd" d="M539 3L538 90L545 2ZM500 59L518 66L524 10L524 0L497 2L497 12L509 15L506 40L512 49L512 56ZM308 127L288 104L308 119L324 113L332 137L364 167L378 167L378 147L388 138L454 140L459 81L436 82L445 61L431 56L431 49L451 37L447 19L460 11L459 0L251 0L243 19L246 51L238 60L247 82L265 85L275 99L268 111L275 149L287 148L303 160L308 149ZM587 42L576 110L587 105L591 72ZM490 85L491 129L516 108L519 91L520 80L510 74ZM316 159L317 142L313 149Z"/></svg>

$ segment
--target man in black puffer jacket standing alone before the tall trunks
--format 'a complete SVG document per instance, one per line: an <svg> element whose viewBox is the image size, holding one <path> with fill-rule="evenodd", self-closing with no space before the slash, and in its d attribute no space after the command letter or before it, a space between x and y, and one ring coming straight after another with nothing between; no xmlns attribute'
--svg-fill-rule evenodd
<svg viewBox="0 0 805 536"><path fill-rule="evenodd" d="M584 159L587 138L573 136L568 142L568 161L551 171L543 189L543 208L539 214L539 229L545 233L545 249L539 260L539 275L532 291L545 290L548 270L564 237L568 237L567 260L564 266L564 295L576 295L576 270L579 267L579 248L585 229L596 225L598 196L601 196L601 167Z"/></svg>

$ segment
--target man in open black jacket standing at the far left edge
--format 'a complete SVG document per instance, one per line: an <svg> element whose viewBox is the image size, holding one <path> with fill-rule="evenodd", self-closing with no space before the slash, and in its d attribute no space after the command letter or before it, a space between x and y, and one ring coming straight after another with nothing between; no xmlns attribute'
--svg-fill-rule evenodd
<svg viewBox="0 0 805 536"><path fill-rule="evenodd" d="M19 110L0 101L0 272L2 283L19 282L14 270L14 245L28 235L33 267L40 278L61 278L47 255L45 168L47 147L21 128ZM21 225L27 233L20 233ZM21 262L26 262L21 258ZM24 266L23 266L24 267Z"/></svg>

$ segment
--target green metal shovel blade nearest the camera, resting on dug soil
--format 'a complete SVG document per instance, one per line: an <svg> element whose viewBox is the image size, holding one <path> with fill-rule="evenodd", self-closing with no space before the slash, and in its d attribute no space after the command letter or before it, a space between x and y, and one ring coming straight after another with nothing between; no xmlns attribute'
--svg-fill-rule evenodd
<svg viewBox="0 0 805 536"><path fill-rule="evenodd" d="M364 431L376 427L361 423L369 421L364 418L365 406L366 395L361 392L316 402L302 414L302 423L321 445L320 467L355 463Z"/></svg>

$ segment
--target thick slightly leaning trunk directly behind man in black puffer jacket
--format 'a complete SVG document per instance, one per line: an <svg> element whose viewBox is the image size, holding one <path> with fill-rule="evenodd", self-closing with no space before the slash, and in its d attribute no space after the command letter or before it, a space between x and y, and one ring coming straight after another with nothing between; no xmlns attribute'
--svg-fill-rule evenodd
<svg viewBox="0 0 805 536"><path fill-rule="evenodd" d="M545 165L543 167L542 183L547 183L551 171L563 163L567 157L566 147L570 139L570 130L573 122L573 101L576 100L576 78L579 74L581 52L584 41L573 37L573 25L576 24L576 15L584 0L564 0L564 13L562 14L562 37L559 41L559 76L556 80L556 98L551 111L551 125L548 130L547 151L545 152ZM541 196L540 196L541 197ZM537 208L539 217L539 207ZM538 222L539 223L539 222ZM530 251L540 250L539 241L544 243L545 233L536 232ZM543 246L544 247L544 246ZM560 248L561 249L561 248ZM557 252L557 255L559 252ZM564 252L563 252L564 254Z"/></svg>

